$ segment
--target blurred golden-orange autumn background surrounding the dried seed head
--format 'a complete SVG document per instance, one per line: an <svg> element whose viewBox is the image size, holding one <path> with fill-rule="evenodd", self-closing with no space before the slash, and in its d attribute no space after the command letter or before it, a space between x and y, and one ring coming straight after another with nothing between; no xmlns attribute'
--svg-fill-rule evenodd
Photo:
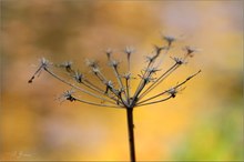
<svg viewBox="0 0 244 162"><path fill-rule="evenodd" d="M85 58L105 65L108 47L123 60L133 45L140 72L161 33L179 38L170 55L201 49L164 88L203 72L175 99L135 110L138 160L243 160L243 1L74 0L1 0L0 160L129 160L124 110L60 104L68 88L44 72L27 81L41 57L85 71Z"/></svg>

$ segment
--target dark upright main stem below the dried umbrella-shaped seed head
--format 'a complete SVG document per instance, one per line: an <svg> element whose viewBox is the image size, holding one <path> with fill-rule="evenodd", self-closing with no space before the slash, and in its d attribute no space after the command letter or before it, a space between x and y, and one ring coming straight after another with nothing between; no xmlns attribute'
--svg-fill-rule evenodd
<svg viewBox="0 0 244 162"><path fill-rule="evenodd" d="M133 108L126 108L131 162L135 162Z"/></svg>

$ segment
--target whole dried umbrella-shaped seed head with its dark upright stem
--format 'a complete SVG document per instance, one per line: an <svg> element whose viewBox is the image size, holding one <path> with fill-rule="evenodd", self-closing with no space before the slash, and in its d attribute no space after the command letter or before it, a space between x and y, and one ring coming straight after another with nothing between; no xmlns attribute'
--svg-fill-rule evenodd
<svg viewBox="0 0 244 162"><path fill-rule="evenodd" d="M134 132L133 132L133 110L138 107L151 105L154 103L160 103L172 98L175 98L179 91L183 90L183 85L194 78L196 73L187 77L184 81L169 88L166 90L161 91L155 94L152 91L161 84L172 72L174 72L182 64L186 63L189 58L192 58L195 49L191 47L184 48L184 54L182 58L172 58L173 63L169 69L161 72L159 77L156 77L156 72L162 71L160 68L162 65L163 57L166 55L172 48L172 43L175 41L175 38L170 36L164 36L163 40L166 42L165 45L155 45L154 52L152 55L148 55L146 67L141 70L141 73L138 74L138 79L140 82L134 91L131 89L131 81L136 79L131 73L131 54L134 52L132 48L126 47L123 51L126 54L126 72L121 73L119 70L120 61L113 59L113 52L111 49L105 51L108 57L108 62L112 71L114 72L116 83L112 80L106 79L103 74L99 63L93 60L85 60L87 65L91 70L93 77L96 78L99 82L101 82L101 87L96 83L93 83L93 80L90 80L84 73L81 73L79 70L74 70L72 62L67 61L61 64L53 64L49 62L47 59L42 58L40 60L40 67L37 72L31 77L28 81L32 83L35 75L39 75L41 71L48 72L53 78L69 85L71 90L65 91L61 99L69 100L71 102L82 102L96 107L110 107L110 108L120 108L126 110L126 119L128 119L128 132L129 132L129 142L130 142L130 158L131 161L135 161L135 146L134 146ZM64 77L59 75L57 72L53 72L53 69L61 69L65 72L71 80L65 79ZM99 99L98 102L88 101L84 98L79 98L77 92L85 93L92 98ZM151 97L148 94L151 93Z"/></svg>

